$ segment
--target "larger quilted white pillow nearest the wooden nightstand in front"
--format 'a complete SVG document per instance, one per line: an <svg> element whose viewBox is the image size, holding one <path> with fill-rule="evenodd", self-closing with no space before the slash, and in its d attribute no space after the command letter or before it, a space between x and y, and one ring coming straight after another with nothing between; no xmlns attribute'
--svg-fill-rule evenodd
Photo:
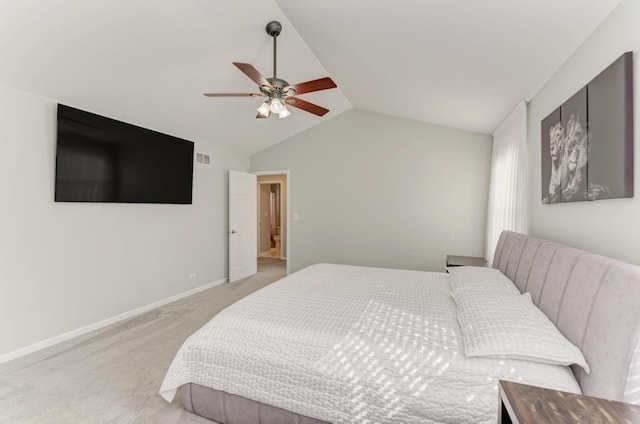
<svg viewBox="0 0 640 424"><path fill-rule="evenodd" d="M589 373L584 355L531 302L531 295L461 290L454 295L467 356L577 364Z"/></svg>

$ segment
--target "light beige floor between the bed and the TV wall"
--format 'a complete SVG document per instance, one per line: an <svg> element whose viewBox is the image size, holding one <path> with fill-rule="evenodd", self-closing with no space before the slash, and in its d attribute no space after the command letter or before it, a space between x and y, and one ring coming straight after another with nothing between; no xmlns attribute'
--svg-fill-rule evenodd
<svg viewBox="0 0 640 424"><path fill-rule="evenodd" d="M0 423L208 423L158 394L184 340L212 316L285 275L261 258L258 273L127 320L100 334L0 365Z"/></svg>

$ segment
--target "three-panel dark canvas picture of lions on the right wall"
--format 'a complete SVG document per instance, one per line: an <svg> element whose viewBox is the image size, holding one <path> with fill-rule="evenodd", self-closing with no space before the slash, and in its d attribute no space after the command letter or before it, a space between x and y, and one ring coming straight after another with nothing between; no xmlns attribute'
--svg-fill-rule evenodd
<svg viewBox="0 0 640 424"><path fill-rule="evenodd" d="M627 52L542 120L542 202L633 196L633 72Z"/></svg>

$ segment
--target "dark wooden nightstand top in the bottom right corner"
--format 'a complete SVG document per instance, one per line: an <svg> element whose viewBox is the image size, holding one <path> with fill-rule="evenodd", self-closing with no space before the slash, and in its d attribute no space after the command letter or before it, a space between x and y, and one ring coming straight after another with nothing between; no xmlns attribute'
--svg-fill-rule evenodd
<svg viewBox="0 0 640 424"><path fill-rule="evenodd" d="M640 423L640 406L500 380L498 424Z"/></svg>

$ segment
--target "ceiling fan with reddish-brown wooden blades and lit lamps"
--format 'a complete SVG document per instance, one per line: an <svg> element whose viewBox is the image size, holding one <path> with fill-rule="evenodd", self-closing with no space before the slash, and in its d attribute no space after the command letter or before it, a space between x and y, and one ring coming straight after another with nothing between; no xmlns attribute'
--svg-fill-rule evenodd
<svg viewBox="0 0 640 424"><path fill-rule="evenodd" d="M287 81L276 76L276 40L282 31L282 25L278 21L271 21L266 27L267 34L273 37L273 78L265 78L260 72L249 63L233 62L246 76L258 84L260 93L204 93L207 97L266 97L258 108L256 118L268 118L272 113L279 118L286 118L291 115L287 105L302 109L314 115L324 116L329 109L307 102L298 97L300 94L311 93L313 91L336 88L337 85L329 77L317 80L289 84Z"/></svg>

